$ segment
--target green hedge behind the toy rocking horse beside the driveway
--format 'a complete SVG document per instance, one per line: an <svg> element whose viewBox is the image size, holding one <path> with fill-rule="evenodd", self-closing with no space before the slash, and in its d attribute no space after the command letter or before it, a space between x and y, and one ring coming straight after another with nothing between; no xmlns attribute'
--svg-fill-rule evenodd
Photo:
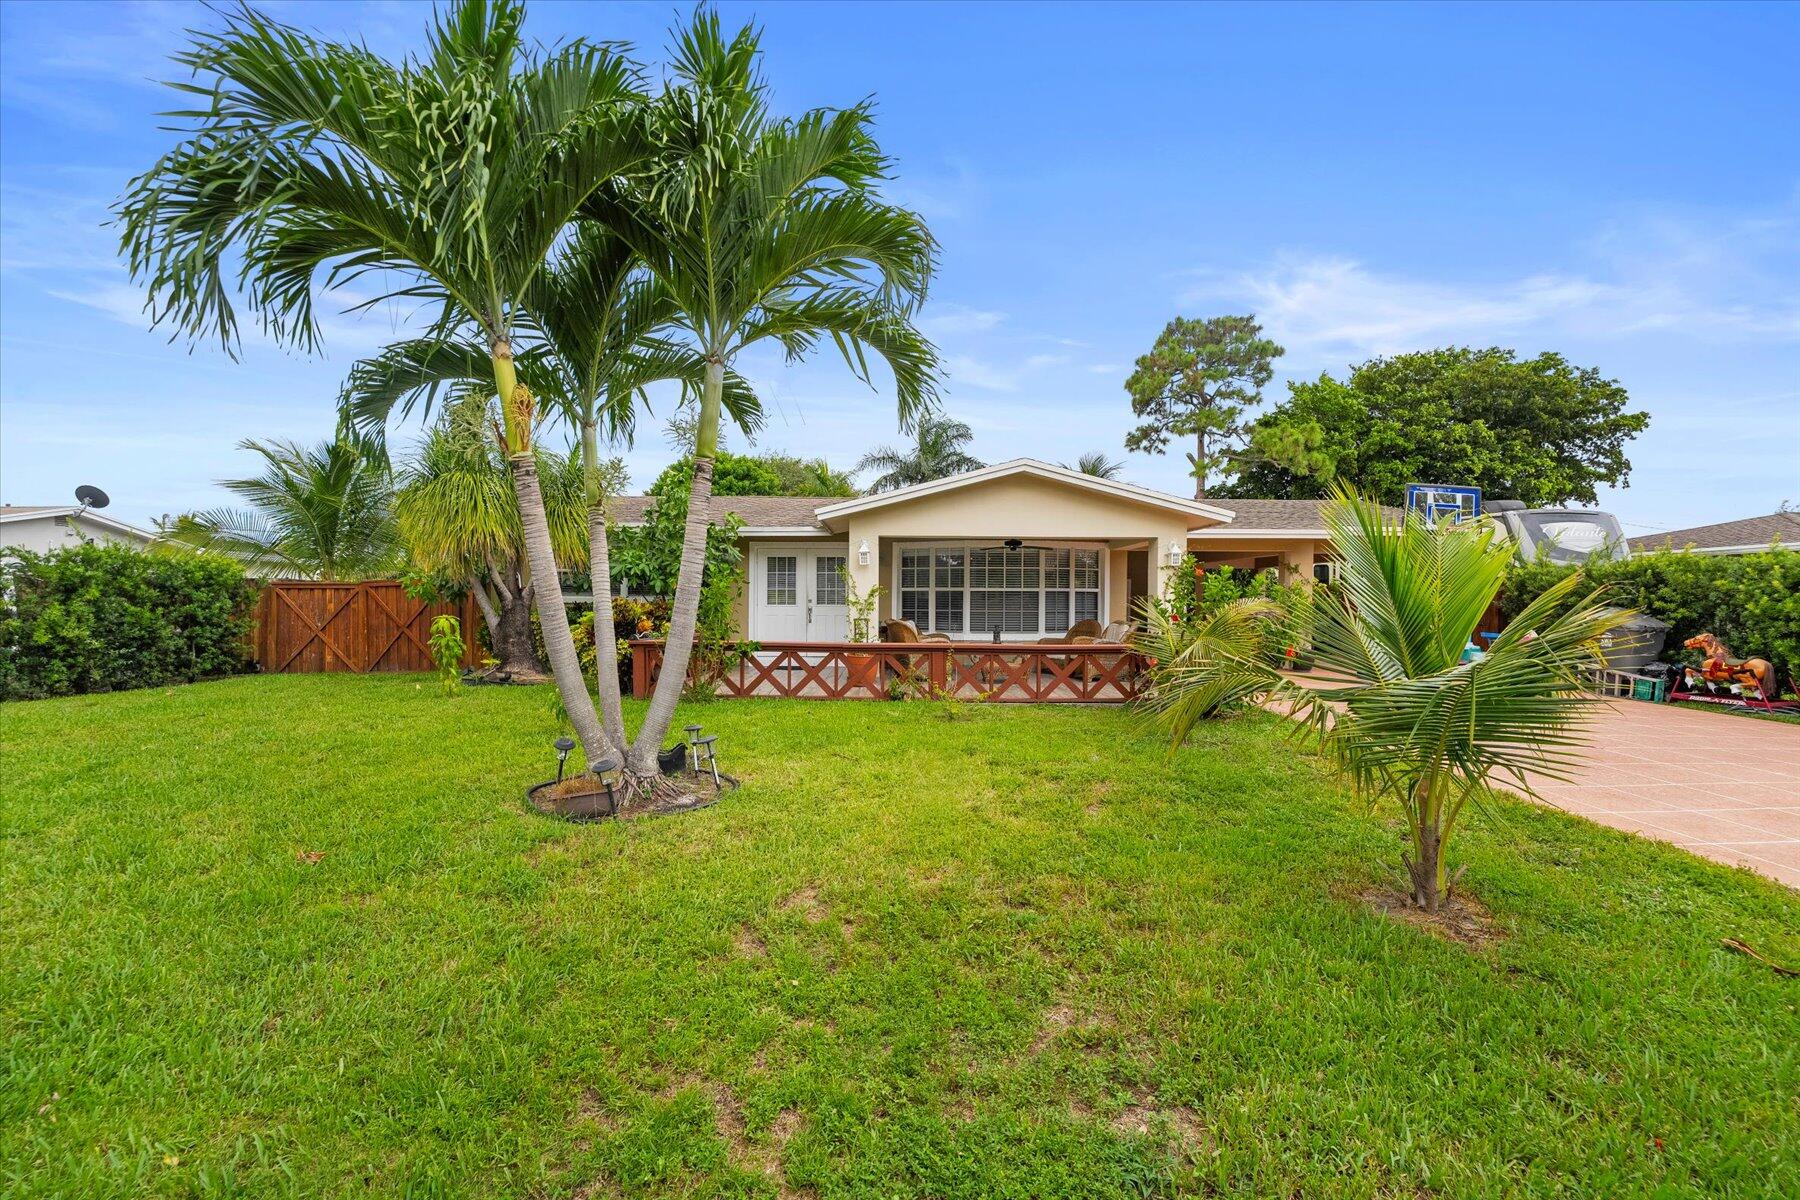
<svg viewBox="0 0 1800 1200"><path fill-rule="evenodd" d="M1519 563L1499 594L1501 615L1512 621L1539 592L1573 567ZM1759 554L1690 554L1656 551L1588 569L1611 588L1611 603L1667 621L1663 658L1697 664L1681 648L1696 633L1717 633L1739 658L1768 658L1784 691L1800 673L1800 551Z"/></svg>

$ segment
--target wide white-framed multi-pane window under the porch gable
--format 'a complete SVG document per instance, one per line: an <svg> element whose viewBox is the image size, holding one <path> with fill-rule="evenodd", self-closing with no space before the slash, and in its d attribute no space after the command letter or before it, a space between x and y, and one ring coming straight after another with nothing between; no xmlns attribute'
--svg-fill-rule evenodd
<svg viewBox="0 0 1800 1200"><path fill-rule="evenodd" d="M1100 619L1100 547L900 547L898 613L952 637L1046 637Z"/></svg>

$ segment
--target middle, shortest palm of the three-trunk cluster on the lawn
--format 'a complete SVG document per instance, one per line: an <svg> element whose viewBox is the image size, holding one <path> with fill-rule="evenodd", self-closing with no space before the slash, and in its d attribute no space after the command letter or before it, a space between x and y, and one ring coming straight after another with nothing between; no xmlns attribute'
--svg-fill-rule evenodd
<svg viewBox="0 0 1800 1200"><path fill-rule="evenodd" d="M515 365L538 398L545 417L556 417L578 437L578 462L587 504L587 545L594 612L605 626L612 612L612 556L607 536L607 461L601 441L628 444L637 426L637 405L652 383L679 381L697 392L706 363L691 347L661 335L673 317L668 291L605 227L581 221L551 255L526 295L531 331ZM441 389L466 389L488 374L486 356L473 345L446 345L437 338L398 342L358 362L344 387L344 408L362 428L382 428L400 410L430 408ZM745 434L761 428L756 394L727 372L724 408ZM551 522L554 531L554 520ZM554 538L553 538L554 542ZM558 552L558 561L569 563ZM625 711L619 696L617 644L596 639L599 720L607 757L625 756Z"/></svg>

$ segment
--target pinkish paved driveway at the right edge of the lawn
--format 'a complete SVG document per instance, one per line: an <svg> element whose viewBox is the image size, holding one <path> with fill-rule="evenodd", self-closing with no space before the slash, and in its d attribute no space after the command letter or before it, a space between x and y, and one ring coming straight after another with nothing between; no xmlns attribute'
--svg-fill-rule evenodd
<svg viewBox="0 0 1800 1200"><path fill-rule="evenodd" d="M1532 781L1544 802L1800 887L1800 725L1633 700L1595 707L1575 781Z"/></svg>

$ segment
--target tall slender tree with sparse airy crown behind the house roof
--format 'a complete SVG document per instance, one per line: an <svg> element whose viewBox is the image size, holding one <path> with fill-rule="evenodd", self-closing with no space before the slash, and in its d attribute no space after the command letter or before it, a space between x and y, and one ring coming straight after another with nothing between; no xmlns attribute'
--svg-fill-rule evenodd
<svg viewBox="0 0 1800 1200"><path fill-rule="evenodd" d="M1206 479L1229 468L1244 410L1262 403L1282 353L1255 317L1175 317L1125 380L1132 416L1143 421L1125 448L1163 453L1172 441L1193 439L1188 466L1193 495L1204 497Z"/></svg>

